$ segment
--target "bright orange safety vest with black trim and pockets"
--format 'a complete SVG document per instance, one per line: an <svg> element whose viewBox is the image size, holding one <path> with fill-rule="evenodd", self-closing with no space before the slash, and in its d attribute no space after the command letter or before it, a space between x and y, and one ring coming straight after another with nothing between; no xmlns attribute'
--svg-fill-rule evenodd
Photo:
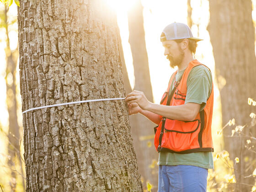
<svg viewBox="0 0 256 192"><path fill-rule="evenodd" d="M171 83L177 71L171 76L168 89L165 91L160 104L178 106L185 103L187 95L187 78L191 69L201 65L196 59L192 60L181 80L177 81L171 91ZM210 69L209 69L210 70ZM187 154L198 151L213 151L212 125L213 117L213 86L203 111L198 112L193 121L179 121L162 117L160 124L155 127L155 149L171 153Z"/></svg>

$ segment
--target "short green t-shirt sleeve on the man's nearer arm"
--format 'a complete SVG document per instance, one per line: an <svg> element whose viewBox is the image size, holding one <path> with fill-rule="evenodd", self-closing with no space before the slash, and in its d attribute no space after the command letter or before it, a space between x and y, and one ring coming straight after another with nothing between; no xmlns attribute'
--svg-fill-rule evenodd
<svg viewBox="0 0 256 192"><path fill-rule="evenodd" d="M211 94L212 82L212 74L205 66L198 65L191 69L187 78L187 96L185 104L201 104L199 111L202 111Z"/></svg>

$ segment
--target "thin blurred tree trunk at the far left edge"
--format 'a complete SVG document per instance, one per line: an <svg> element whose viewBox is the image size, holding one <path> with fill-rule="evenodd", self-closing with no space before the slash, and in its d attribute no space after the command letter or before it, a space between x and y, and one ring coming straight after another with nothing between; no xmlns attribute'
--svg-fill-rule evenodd
<svg viewBox="0 0 256 192"><path fill-rule="evenodd" d="M17 165L21 165L21 174L23 175L22 161L20 154L20 127L17 121L17 101L16 101L16 63L18 59L18 48L11 51L10 48L10 39L9 39L9 30L8 30L8 21L7 21L7 12L9 11L8 5L5 5L4 10L4 23L5 23L5 34L6 34L6 69L5 69L5 85L6 85L6 104L9 114L9 131L8 131L8 154L10 159L8 160L8 165L12 170L16 170L16 158L18 159ZM16 172L11 171L11 191L16 190ZM25 191L25 181L22 178L22 185Z"/></svg>

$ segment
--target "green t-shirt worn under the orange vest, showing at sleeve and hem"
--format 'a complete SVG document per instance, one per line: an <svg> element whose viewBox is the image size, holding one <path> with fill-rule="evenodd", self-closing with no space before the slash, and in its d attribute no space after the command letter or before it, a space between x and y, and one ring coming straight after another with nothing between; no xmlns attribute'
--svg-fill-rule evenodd
<svg viewBox="0 0 256 192"><path fill-rule="evenodd" d="M184 71L185 69L177 72L176 80L180 79ZM211 94L212 82L212 74L205 66L198 65L191 69L187 78L185 103L201 104L200 111L202 111ZM173 88L173 82L171 88ZM189 154L160 152L158 165L194 165L206 169L213 169L213 155L212 152L195 152Z"/></svg>

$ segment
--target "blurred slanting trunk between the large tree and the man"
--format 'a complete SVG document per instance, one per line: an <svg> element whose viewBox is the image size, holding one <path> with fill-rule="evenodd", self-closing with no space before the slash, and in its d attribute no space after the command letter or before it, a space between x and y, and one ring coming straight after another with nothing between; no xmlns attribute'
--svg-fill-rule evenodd
<svg viewBox="0 0 256 192"><path fill-rule="evenodd" d="M143 7L140 0L136 1L128 10L128 27L129 43L133 55L134 89L143 91L148 100L153 101L149 75L149 61L145 43ZM140 114L132 118L131 127L138 157L139 171L145 181L149 181L153 186L157 186L158 172L153 168L154 166L151 166L152 168L149 167L152 161L158 159L158 154L154 149L153 128L155 124ZM157 166L155 168L157 169Z"/></svg>

